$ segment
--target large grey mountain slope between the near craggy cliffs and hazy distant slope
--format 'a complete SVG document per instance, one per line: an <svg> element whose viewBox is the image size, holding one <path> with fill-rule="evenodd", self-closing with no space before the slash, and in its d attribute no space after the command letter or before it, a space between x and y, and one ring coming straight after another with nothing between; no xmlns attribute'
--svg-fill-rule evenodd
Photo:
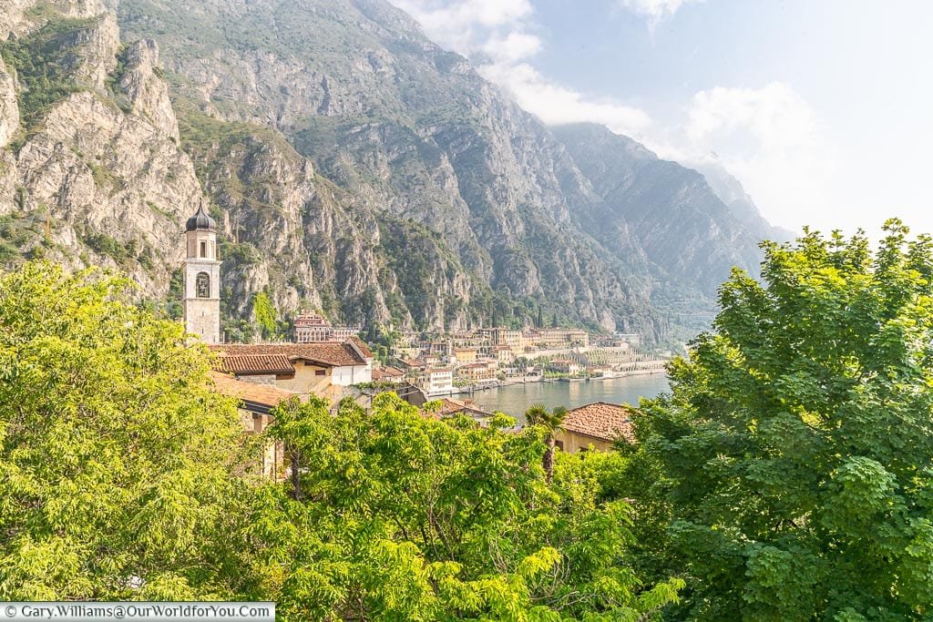
<svg viewBox="0 0 933 622"><path fill-rule="evenodd" d="M120 21L130 36L160 40L179 108L284 132L359 210L437 231L479 283L520 303L520 318L544 305L577 322L649 325L637 248L612 256L570 226L576 204L598 198L562 185L559 173L575 169L563 147L393 7L129 0ZM480 289L465 282L443 305L464 307L454 325L481 321L466 312ZM399 295L431 307L448 291Z"/></svg>

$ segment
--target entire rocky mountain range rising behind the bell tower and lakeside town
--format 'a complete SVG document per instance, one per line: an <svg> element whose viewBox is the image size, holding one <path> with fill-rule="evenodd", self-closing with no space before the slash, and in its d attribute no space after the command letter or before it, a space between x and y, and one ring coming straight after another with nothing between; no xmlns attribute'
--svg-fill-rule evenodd
<svg viewBox="0 0 933 622"><path fill-rule="evenodd" d="M164 302L203 204L231 334L266 291L373 329L541 309L651 342L664 300L758 263L699 173L555 134L382 0L12 0L0 35L0 260Z"/></svg>

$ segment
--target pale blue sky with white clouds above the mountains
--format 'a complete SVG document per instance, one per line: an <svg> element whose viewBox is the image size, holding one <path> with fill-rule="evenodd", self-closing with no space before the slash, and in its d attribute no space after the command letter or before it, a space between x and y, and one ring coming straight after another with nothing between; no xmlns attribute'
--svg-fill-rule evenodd
<svg viewBox="0 0 933 622"><path fill-rule="evenodd" d="M933 233L933 1L390 1L547 123L718 159L775 225Z"/></svg>

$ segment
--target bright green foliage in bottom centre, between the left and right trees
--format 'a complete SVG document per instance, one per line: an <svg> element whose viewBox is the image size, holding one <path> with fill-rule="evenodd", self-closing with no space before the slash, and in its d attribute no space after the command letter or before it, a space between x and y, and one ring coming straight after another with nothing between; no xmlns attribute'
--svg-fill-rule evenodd
<svg viewBox="0 0 933 622"><path fill-rule="evenodd" d="M250 520L283 619L635 620L676 600L676 580L639 593L599 461L568 457L550 489L536 430L425 419L395 394L328 406L275 410L293 477Z"/></svg>

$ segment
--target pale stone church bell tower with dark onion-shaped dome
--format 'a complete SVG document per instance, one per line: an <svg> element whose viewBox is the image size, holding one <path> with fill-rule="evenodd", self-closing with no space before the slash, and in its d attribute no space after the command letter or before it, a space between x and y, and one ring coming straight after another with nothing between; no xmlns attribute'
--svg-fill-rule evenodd
<svg viewBox="0 0 933 622"><path fill-rule="evenodd" d="M199 207L185 226L185 329L206 343L220 343L220 262L217 225Z"/></svg>

